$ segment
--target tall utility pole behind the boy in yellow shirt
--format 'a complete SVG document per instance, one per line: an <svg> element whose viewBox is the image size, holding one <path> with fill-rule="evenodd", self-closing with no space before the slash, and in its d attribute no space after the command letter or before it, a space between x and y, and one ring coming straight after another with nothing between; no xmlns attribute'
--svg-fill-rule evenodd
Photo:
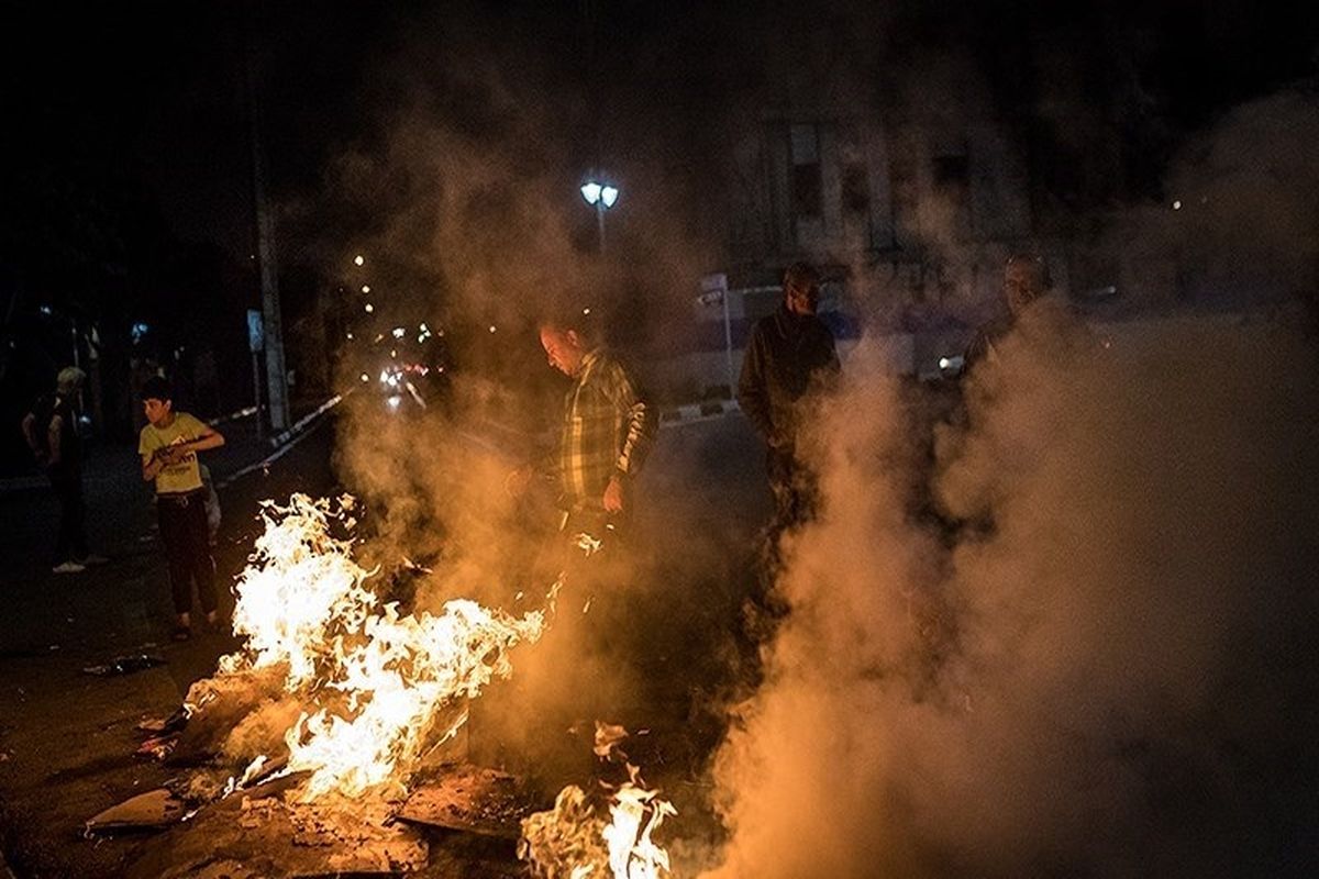
<svg viewBox="0 0 1319 879"><path fill-rule="evenodd" d="M252 7L247 16L247 94L248 130L252 140L252 203L256 208L256 250L261 271L261 316L265 347L265 398L270 409L270 428L278 434L289 426L289 373L284 365L284 323L280 318L280 268L274 249L274 217L265 192L265 152L261 149L261 101L256 61L256 32ZM260 399L257 401L260 406ZM257 411L260 420L261 412Z"/></svg>

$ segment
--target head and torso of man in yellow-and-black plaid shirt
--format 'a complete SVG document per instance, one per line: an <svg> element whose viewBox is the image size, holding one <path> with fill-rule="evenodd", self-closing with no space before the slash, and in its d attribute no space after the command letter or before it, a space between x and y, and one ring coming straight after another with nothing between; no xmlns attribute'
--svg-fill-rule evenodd
<svg viewBox="0 0 1319 879"><path fill-rule="evenodd" d="M541 345L550 365L572 378L554 467L562 507L587 519L627 514L658 428L654 407L617 357L580 329L547 322Z"/></svg>

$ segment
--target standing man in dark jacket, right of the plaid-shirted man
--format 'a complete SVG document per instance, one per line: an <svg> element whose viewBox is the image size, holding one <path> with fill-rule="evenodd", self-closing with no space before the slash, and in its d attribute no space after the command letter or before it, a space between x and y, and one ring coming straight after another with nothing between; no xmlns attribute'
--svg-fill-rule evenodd
<svg viewBox="0 0 1319 879"><path fill-rule="evenodd" d="M805 262L783 274L783 302L752 328L737 402L765 438L765 469L774 493L772 538L815 510L815 478L798 456L807 393L839 373L834 333L815 316L819 274Z"/></svg>

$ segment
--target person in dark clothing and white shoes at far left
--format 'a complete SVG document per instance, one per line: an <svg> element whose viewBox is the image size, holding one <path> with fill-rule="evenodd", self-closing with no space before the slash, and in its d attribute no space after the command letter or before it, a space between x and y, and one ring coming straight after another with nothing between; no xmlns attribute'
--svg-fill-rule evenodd
<svg viewBox="0 0 1319 879"><path fill-rule="evenodd" d="M82 490L82 439L75 405L83 373L77 366L59 370L55 393L42 397L22 419L22 434L37 464L46 470L59 499L54 573L80 573L104 561L87 551L87 511Z"/></svg>

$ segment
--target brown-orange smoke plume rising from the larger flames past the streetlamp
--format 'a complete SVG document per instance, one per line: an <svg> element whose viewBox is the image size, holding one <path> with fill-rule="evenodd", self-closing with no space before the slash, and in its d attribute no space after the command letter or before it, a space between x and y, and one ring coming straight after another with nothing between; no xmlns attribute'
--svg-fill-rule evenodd
<svg viewBox="0 0 1319 879"><path fill-rule="evenodd" d="M650 95L601 76L624 63L607 57L608 22L592 25L600 33L591 37L558 12L459 7L405 24L368 62L361 136L330 162L315 210L290 204L285 219L360 229L352 241L311 228L303 237L317 241L305 256L327 265L364 254L357 274L344 270L355 340L340 352L339 380L359 390L340 407L335 451L343 485L364 501L361 563L380 565L381 590L406 610L434 611L460 596L518 611L539 606L562 571L545 551L553 498L536 486L506 490L509 470L553 445L566 390L545 362L537 320L568 312L587 323L590 310L592 328L629 356L682 343L674 324L686 331L696 278L718 268L721 244L710 235L719 217L702 200L706 175L675 171L702 123L665 96L665 84ZM566 61L574 51L580 69ZM669 86L682 75L663 57L637 63ZM621 190L603 253L596 216L578 194L591 170ZM455 368L442 399L418 414L400 393L410 414L394 416L376 377L406 358L404 345L388 356L392 328L410 337L421 322L443 333ZM384 343L369 345L380 333ZM550 633L513 656L514 680L474 705L474 759L582 783L590 721L636 726L628 717L648 691L633 660L669 611L648 598L650 561L637 552L608 572L620 602L646 608L640 614L616 613L608 589L565 586ZM574 745L563 737L576 721L587 727ZM583 759L563 759L574 747Z"/></svg>

